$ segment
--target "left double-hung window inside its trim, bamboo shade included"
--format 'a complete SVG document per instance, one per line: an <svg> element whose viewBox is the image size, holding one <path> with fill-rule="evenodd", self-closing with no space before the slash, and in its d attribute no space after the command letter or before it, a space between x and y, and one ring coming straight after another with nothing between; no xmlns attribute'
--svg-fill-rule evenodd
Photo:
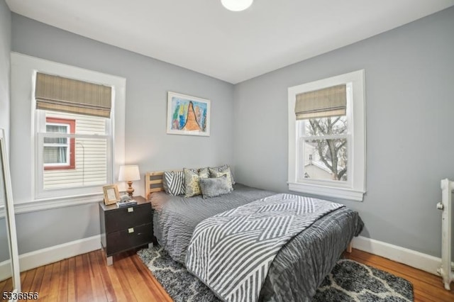
<svg viewBox="0 0 454 302"><path fill-rule="evenodd" d="M35 79L37 195L111 183L111 86L40 72Z"/></svg>

